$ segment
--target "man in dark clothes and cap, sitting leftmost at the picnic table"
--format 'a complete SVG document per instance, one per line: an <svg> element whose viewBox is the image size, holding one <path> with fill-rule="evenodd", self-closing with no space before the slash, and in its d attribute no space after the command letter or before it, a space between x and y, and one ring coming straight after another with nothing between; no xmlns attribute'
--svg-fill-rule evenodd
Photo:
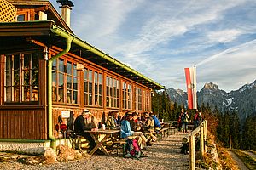
<svg viewBox="0 0 256 170"><path fill-rule="evenodd" d="M87 109L84 109L82 111L81 115L79 115L74 122L74 132L82 135L84 139L89 141L90 147L89 150L92 150L96 146L96 142L94 139L90 136L90 133L84 132L85 130L92 130L96 128L90 127L90 122L88 122L88 118L91 115L90 111Z"/></svg>

